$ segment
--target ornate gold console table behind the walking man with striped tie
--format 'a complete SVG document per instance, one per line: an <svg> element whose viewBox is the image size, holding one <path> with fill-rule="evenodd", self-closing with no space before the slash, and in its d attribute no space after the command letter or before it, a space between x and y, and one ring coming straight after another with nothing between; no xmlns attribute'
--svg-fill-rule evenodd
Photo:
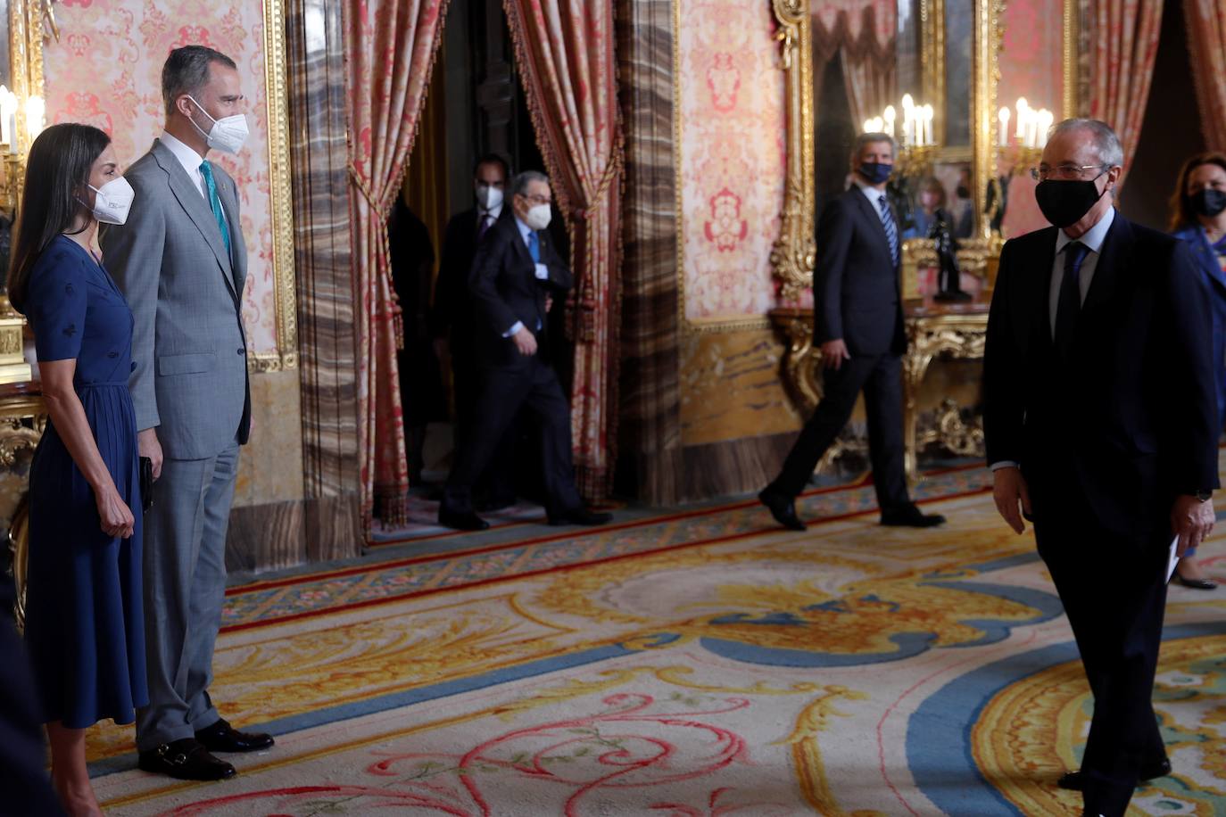
<svg viewBox="0 0 1226 817"><path fill-rule="evenodd" d="M821 399L820 349L813 344L813 310L780 307L770 314L771 323L786 338L783 378L804 414L810 414ZM983 427L978 420L966 421L951 399L937 409L932 427L921 431L920 393L933 359L978 360L983 358L987 337L988 303L939 304L932 299L911 301L904 309L907 350L902 355L902 442L907 479L916 481L916 456L927 445L938 442L956 454L982 456ZM829 465L847 451L861 447L846 432L831 445L818 463Z"/></svg>

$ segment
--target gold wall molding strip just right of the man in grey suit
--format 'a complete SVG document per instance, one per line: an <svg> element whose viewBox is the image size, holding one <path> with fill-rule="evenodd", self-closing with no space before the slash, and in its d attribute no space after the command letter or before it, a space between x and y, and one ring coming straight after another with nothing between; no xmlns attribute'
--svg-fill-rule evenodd
<svg viewBox="0 0 1226 817"><path fill-rule="evenodd" d="M264 1L265 120L268 124L268 218L272 224L272 277L277 348L248 356L248 370L298 367L298 305L294 280L294 218L289 170L289 89L284 0Z"/></svg>

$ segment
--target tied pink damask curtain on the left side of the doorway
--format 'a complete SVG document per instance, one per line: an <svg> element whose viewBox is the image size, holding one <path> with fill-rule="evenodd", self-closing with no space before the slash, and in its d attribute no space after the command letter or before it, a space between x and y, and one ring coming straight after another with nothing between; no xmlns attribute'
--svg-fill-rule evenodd
<svg viewBox="0 0 1226 817"><path fill-rule="evenodd" d="M363 518L406 521L408 467L397 385L402 343L387 214L400 194L446 0L351 0L346 9L358 440Z"/></svg>

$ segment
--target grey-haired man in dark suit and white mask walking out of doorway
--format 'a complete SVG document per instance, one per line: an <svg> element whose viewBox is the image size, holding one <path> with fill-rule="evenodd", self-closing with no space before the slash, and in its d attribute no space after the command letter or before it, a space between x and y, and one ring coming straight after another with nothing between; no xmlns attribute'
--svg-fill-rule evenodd
<svg viewBox="0 0 1226 817"><path fill-rule="evenodd" d="M460 442L443 489L439 524L460 530L489 525L473 512L472 485L493 457L520 408L541 424L546 511L550 524L604 524L608 513L588 511L575 489L570 404L553 366L542 354L549 304L574 285L546 228L553 194L533 170L511 185L514 216L490 227L468 276L473 334L483 366L472 434Z"/></svg>

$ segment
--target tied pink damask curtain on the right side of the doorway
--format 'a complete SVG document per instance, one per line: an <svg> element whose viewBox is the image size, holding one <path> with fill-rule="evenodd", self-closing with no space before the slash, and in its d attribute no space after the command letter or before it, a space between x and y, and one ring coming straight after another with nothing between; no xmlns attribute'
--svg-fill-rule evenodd
<svg viewBox="0 0 1226 817"><path fill-rule="evenodd" d="M568 217L570 425L579 490L608 490L617 405L622 136L613 0L504 0L537 141Z"/></svg>

